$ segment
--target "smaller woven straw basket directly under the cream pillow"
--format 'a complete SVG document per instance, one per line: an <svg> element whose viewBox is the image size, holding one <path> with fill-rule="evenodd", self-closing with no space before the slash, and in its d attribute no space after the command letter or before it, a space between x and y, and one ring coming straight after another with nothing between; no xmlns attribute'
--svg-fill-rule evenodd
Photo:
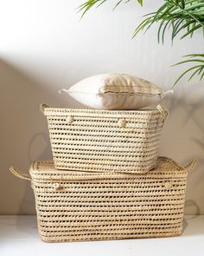
<svg viewBox="0 0 204 256"><path fill-rule="evenodd" d="M145 173L156 164L163 121L156 109L109 111L48 108L54 167L82 171Z"/></svg>

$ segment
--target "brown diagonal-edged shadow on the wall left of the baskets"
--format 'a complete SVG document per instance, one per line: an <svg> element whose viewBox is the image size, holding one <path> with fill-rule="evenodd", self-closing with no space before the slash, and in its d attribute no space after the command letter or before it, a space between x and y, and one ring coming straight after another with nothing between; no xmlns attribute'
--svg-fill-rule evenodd
<svg viewBox="0 0 204 256"><path fill-rule="evenodd" d="M0 214L34 214L35 201L28 181L9 173L14 165L29 169L31 161L52 157L41 102L57 104L57 92L0 60Z"/></svg>

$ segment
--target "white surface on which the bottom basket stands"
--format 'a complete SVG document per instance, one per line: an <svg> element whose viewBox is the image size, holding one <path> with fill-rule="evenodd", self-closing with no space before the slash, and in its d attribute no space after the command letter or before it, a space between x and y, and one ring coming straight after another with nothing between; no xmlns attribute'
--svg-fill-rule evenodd
<svg viewBox="0 0 204 256"><path fill-rule="evenodd" d="M204 215L185 216L179 237L44 243L36 216L0 216L0 256L203 256Z"/></svg>

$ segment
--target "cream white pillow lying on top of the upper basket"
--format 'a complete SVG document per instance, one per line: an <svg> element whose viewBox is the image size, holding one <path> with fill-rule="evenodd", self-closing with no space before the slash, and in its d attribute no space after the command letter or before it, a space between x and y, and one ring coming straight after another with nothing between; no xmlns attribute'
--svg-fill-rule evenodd
<svg viewBox="0 0 204 256"><path fill-rule="evenodd" d="M163 89L142 78L126 74L101 74L61 89L76 101L101 109L138 109L159 102Z"/></svg>

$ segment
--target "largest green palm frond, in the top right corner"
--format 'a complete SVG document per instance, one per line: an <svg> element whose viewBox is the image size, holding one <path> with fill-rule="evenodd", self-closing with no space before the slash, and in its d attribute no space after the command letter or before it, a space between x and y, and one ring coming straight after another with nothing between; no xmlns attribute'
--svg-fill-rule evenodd
<svg viewBox="0 0 204 256"><path fill-rule="evenodd" d="M167 29L166 23L169 23L169 21L172 27L172 41L181 31L183 31L181 38L193 36L195 30L204 29L204 1L188 0L183 3L182 0L166 0L156 12L146 15L144 20L151 20L151 22L145 23L145 26L143 26L143 30L145 31L149 30L154 23L160 23L157 32L159 42L163 42L164 34ZM133 37L137 36L140 31L140 26L137 26ZM161 31L163 31L163 33L161 33ZM161 36L162 40L160 40Z"/></svg>

